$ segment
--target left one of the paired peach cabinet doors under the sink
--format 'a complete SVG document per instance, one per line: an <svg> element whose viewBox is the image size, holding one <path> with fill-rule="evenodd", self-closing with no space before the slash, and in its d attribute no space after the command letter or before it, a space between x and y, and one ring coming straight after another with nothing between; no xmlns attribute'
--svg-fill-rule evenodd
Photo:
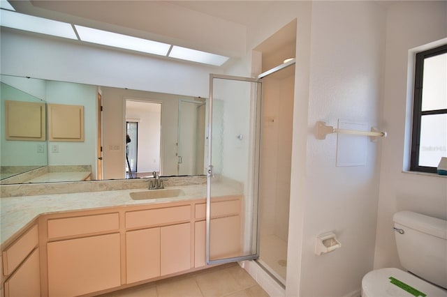
<svg viewBox="0 0 447 297"><path fill-rule="evenodd" d="M160 228L126 232L127 283L160 276Z"/></svg>

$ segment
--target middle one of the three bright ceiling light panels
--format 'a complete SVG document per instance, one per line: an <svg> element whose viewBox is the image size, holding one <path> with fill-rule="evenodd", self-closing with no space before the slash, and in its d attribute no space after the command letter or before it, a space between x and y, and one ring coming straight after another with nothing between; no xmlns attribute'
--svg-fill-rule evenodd
<svg viewBox="0 0 447 297"><path fill-rule="evenodd" d="M152 40L87 28L85 26L75 25L75 28L76 31L78 31L80 40L89 43L119 47L126 50L135 50L137 52L146 52L148 54L158 54L161 56L166 56L170 48L170 45L167 45L166 43L158 43Z"/></svg>

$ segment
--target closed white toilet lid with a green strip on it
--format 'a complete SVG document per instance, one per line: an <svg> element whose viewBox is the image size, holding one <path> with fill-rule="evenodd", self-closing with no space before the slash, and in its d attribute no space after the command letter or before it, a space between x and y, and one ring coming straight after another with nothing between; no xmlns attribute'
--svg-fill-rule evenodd
<svg viewBox="0 0 447 297"><path fill-rule="evenodd" d="M447 291L397 268L370 271L362 280L365 296L447 296Z"/></svg>

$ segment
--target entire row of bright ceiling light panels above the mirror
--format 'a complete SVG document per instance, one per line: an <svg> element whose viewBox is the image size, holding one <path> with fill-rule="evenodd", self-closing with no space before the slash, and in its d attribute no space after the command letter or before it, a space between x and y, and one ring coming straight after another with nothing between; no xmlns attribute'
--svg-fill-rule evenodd
<svg viewBox="0 0 447 297"><path fill-rule="evenodd" d="M15 13L14 11L6 10L8 8L5 9L3 6L6 4L9 5L8 1L0 1L2 5L0 25L8 28L42 33L62 38L78 39L87 43L96 43L99 45L118 47L126 50L134 50L137 52L145 52L148 54L156 54L159 56L166 56L197 63L205 63L214 66L221 66L229 59L227 56L220 56L210 52L201 52L199 50L191 50L186 47L168 45L166 43L159 43L153 40L88 28L77 24L72 25L64 22L44 19L42 17ZM10 8L14 9L12 6L10 6Z"/></svg>

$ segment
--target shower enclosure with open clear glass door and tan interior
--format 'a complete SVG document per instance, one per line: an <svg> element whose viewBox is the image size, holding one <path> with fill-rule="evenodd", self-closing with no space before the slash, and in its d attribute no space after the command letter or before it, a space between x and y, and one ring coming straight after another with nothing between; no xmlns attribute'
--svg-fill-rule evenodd
<svg viewBox="0 0 447 297"><path fill-rule="evenodd" d="M257 259L285 285L295 60L260 77L210 75L207 264ZM230 187L223 185L230 184ZM211 220L214 191L242 192L242 215ZM219 252L219 238L235 242ZM232 236L232 237L231 237ZM242 247L242 248L240 248Z"/></svg>

